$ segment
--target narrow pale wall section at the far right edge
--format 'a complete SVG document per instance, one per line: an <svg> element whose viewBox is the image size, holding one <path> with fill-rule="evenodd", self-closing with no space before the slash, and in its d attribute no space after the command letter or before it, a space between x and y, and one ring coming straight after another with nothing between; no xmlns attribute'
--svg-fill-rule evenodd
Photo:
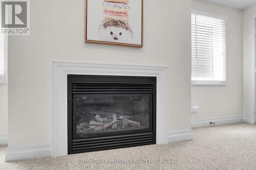
<svg viewBox="0 0 256 170"><path fill-rule="evenodd" d="M243 100L243 116L245 122L254 122L254 106L255 106L255 53L253 52L256 4L243 10L243 35L244 35L244 100ZM251 57L252 56L252 57Z"/></svg>

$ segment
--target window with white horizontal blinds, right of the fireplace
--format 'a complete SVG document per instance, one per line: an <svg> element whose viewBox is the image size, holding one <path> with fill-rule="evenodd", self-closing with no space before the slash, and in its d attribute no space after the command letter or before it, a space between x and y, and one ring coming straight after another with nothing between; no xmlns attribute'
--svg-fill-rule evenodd
<svg viewBox="0 0 256 170"><path fill-rule="evenodd" d="M226 20L191 14L192 85L225 85Z"/></svg>

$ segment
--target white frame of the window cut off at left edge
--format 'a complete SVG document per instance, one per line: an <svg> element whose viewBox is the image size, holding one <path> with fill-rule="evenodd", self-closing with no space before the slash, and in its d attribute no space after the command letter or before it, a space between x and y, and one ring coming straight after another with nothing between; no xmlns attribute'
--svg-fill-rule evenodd
<svg viewBox="0 0 256 170"><path fill-rule="evenodd" d="M3 52L1 55L4 57L4 77L0 84L8 84L8 35L3 36Z"/></svg>

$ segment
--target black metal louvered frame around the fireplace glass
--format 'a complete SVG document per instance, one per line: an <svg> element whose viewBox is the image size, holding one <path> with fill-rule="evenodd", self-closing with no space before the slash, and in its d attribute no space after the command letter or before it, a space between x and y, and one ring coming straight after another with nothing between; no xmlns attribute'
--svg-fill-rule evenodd
<svg viewBox="0 0 256 170"><path fill-rule="evenodd" d="M135 147L139 145L156 144L156 77L134 77L134 76L94 76L94 75L68 75L68 154L102 151L118 148ZM127 83L127 84L151 84L153 91L144 91L143 93L150 93L152 96L151 102L151 118L150 130L144 131L122 131L113 135L113 133L102 133L101 135L76 138L74 136L74 102L73 96L77 94L88 93L75 93L73 91L74 83ZM129 90L129 89L127 89ZM141 91L105 91L104 94L115 93L142 93ZM93 91L90 94L102 94L102 91ZM83 148L84 146L84 148ZM76 148L77 147L77 148Z"/></svg>

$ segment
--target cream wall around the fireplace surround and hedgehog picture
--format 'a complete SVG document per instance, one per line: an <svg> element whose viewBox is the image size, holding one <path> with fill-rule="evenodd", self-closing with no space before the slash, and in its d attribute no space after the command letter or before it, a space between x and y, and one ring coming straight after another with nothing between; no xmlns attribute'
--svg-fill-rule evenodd
<svg viewBox="0 0 256 170"><path fill-rule="evenodd" d="M144 1L143 48L84 43L84 0L30 2L31 35L9 38L9 146L50 142L52 60L166 65L169 130L190 129L190 0Z"/></svg>

